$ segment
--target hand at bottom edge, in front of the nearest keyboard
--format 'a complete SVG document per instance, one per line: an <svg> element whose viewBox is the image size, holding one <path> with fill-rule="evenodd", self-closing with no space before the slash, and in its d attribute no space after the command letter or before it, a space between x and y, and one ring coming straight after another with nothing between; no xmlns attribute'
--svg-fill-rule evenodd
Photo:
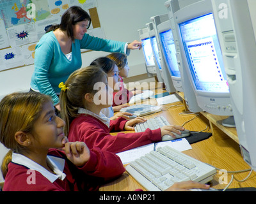
<svg viewBox="0 0 256 204"><path fill-rule="evenodd" d="M179 182L166 189L166 191L189 191L189 189L209 189L209 185L200 184L192 180L186 182Z"/></svg>

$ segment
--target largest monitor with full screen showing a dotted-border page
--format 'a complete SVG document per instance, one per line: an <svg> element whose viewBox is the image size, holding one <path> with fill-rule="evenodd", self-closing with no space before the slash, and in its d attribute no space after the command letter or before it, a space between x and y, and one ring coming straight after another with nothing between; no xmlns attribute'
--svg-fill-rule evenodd
<svg viewBox="0 0 256 204"><path fill-rule="evenodd" d="M182 59L198 106L214 115L232 116L223 125L235 127L230 91L209 0L198 1L174 13L179 27Z"/></svg>

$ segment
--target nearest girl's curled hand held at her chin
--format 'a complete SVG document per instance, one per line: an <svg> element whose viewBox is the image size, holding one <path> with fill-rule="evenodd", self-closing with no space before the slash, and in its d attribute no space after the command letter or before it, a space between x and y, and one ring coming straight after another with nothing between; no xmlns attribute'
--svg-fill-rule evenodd
<svg viewBox="0 0 256 204"><path fill-rule="evenodd" d="M84 142L66 142L62 150L76 166L83 166L90 159L90 150Z"/></svg>

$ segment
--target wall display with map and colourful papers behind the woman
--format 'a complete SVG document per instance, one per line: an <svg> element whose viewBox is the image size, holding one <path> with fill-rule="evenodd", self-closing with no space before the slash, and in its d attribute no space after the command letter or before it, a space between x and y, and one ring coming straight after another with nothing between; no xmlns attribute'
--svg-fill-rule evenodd
<svg viewBox="0 0 256 204"><path fill-rule="evenodd" d="M81 6L89 13L88 34L105 38L96 0L0 0L0 71L33 64L35 46L45 27L60 24L70 6Z"/></svg>

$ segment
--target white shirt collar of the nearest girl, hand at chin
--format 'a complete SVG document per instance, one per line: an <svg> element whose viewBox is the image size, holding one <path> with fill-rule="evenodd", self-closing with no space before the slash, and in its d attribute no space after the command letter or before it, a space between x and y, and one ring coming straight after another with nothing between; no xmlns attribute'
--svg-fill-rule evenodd
<svg viewBox="0 0 256 204"><path fill-rule="evenodd" d="M23 156L22 154L12 153L12 162L20 164L22 166L26 166L30 170L35 170L42 173L42 175L44 175L44 177L47 178L52 183L57 179L64 180L66 177L65 173L63 173L65 159L62 159L60 157L47 156L47 164L51 166L55 174L46 170L43 166L41 166L38 163L35 163L35 161L29 159L26 156Z"/></svg>

